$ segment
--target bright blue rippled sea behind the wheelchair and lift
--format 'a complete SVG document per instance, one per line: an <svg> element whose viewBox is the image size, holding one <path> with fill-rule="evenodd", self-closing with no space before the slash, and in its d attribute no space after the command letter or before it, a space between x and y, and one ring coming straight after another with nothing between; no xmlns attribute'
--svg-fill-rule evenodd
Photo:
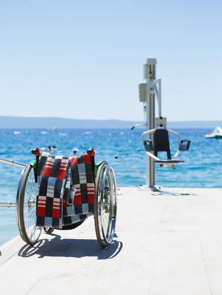
<svg viewBox="0 0 222 295"><path fill-rule="evenodd" d="M0 130L0 157L28 162L34 159L33 147L56 146L57 155L72 155L89 146L95 148L96 161L105 159L115 170L117 186L139 186L144 178L115 159L120 159L145 174L145 152L141 143L143 129L71 129L71 130ZM185 163L167 168L156 167L156 184L164 187L222 187L222 140L205 139L206 129L178 129L181 139L190 139L189 151L179 158ZM16 132L16 134L14 134ZM170 136L171 152L177 149L177 140ZM77 154L77 155L78 155ZM163 155L165 156L165 155ZM0 202L15 202L17 184L22 169L0 163ZM0 245L17 236L15 208L0 208Z"/></svg>

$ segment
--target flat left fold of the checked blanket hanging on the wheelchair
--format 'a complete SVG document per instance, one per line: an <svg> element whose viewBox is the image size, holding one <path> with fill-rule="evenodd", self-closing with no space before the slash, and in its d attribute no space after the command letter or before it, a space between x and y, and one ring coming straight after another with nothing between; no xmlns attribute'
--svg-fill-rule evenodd
<svg viewBox="0 0 222 295"><path fill-rule="evenodd" d="M62 228L63 193L69 157L40 152L36 226Z"/></svg>

